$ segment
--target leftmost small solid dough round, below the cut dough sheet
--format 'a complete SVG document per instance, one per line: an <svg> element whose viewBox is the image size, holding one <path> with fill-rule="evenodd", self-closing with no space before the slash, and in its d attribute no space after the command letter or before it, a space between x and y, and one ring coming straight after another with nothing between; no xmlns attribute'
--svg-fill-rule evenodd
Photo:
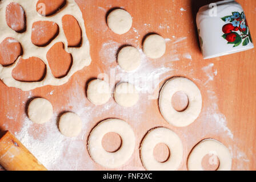
<svg viewBox="0 0 256 182"><path fill-rule="evenodd" d="M50 121L53 115L53 106L45 98L35 98L30 102L27 114L34 123L43 124Z"/></svg>

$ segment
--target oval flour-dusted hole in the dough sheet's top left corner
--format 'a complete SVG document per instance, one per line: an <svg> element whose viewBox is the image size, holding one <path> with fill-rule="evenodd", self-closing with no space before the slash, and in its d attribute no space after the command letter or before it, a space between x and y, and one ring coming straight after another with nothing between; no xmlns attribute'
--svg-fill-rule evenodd
<svg viewBox="0 0 256 182"><path fill-rule="evenodd" d="M11 29L18 33L26 31L26 15L21 5L11 2L7 5L5 14L6 23Z"/></svg>

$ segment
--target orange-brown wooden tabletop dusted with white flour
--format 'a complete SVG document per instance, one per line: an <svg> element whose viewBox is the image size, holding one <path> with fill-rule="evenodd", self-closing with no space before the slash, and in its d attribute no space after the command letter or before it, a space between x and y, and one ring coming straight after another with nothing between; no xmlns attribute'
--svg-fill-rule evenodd
<svg viewBox="0 0 256 182"><path fill-rule="evenodd" d="M50 1L42 2L50 5ZM0 130L10 130L46 168L52 170L107 169L91 160L86 147L91 129L107 118L120 118L128 122L137 138L133 156L117 169L144 169L139 158L139 145L147 131L159 126L175 131L182 139L184 152L180 170L187 169L189 152L195 144L206 138L217 139L230 149L233 155L233 170L256 169L255 48L203 60L198 45L195 14L200 6L214 1L76 2L85 20L86 34L90 42L91 65L75 73L69 82L62 86L43 86L30 92L8 88L0 81ZM237 2L241 3L245 10L253 40L256 40L256 1ZM55 4L62 5L62 1L55 1ZM52 3L50 7L53 8L55 4ZM122 7L133 16L133 27L124 35L114 34L106 25L106 14L114 7ZM74 23L74 20L67 17L67 26L69 23ZM72 27L73 33L77 32L75 26ZM53 31L56 30L53 28ZM159 111L158 100L148 100L150 93L141 93L139 103L129 109L115 104L113 97L102 106L95 106L86 98L87 83L101 73L109 76L113 72L120 73L122 76L117 78L115 83L126 81L127 75L119 69L116 61L118 48L131 44L141 49L143 38L150 32L157 32L166 39L166 53L157 60L144 57L141 68L134 75L149 78L159 76L159 83L154 88L157 94L163 82L173 76L184 76L193 80L201 90L203 107L197 120L190 126L179 128L167 123ZM79 34L74 33L70 36L70 44L79 42ZM15 60L21 50L17 44L9 45L8 51L4 46L7 45L2 43L0 47L0 63L7 65ZM71 56L63 51L61 43L51 50L48 57L54 75L65 75L71 64ZM22 60L14 70L13 77L22 81L41 80L45 73L44 66L35 58ZM46 98L53 104L54 117L45 125L33 124L27 118L27 104L34 97ZM82 118L83 130L77 138L63 137L58 131L58 118L65 111L73 111Z"/></svg>

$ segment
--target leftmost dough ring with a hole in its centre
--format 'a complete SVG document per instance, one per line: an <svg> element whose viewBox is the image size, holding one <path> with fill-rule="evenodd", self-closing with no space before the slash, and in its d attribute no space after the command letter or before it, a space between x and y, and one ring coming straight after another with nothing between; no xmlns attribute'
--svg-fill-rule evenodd
<svg viewBox="0 0 256 182"><path fill-rule="evenodd" d="M109 132L117 133L122 139L122 146L116 152L107 152L102 147L102 138ZM107 119L91 131L88 150L91 158L107 168L117 168L130 159L135 148L135 135L131 126L121 119Z"/></svg>

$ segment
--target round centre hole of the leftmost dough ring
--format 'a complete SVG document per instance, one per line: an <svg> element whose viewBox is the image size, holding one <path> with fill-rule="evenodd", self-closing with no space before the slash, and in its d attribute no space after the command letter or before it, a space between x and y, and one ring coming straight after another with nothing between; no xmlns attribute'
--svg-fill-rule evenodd
<svg viewBox="0 0 256 182"><path fill-rule="evenodd" d="M105 151L116 152L122 146L122 139L117 133L109 132L104 135L101 144Z"/></svg>

